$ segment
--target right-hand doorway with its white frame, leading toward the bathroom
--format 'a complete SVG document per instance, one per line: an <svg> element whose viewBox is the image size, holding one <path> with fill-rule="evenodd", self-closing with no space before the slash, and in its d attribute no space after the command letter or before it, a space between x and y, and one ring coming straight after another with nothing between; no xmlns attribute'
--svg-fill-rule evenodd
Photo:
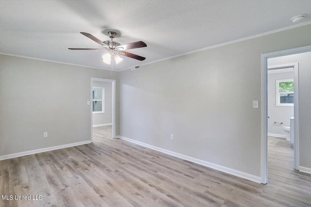
<svg viewBox="0 0 311 207"><path fill-rule="evenodd" d="M305 77L310 75L308 72L311 66L310 58L311 46L261 55L261 183L263 184L268 183L268 177L282 182L282 179L285 181L290 175L299 171L306 172L305 169L308 169L300 165L299 158L307 157L311 145L303 146L302 152L299 148L302 146L301 142L308 145L309 141L305 138L309 132L306 127L301 127L299 122L303 122L302 119L305 117L308 119L311 115L310 110L306 110L309 106L306 91L310 91L307 89L310 80ZM301 94L304 95L302 98ZM302 141L301 134L304 135Z"/></svg>

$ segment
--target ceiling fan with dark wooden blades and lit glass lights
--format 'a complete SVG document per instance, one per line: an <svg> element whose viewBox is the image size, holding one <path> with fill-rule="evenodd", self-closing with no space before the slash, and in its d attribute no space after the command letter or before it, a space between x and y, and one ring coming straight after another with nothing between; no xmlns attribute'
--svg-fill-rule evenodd
<svg viewBox="0 0 311 207"><path fill-rule="evenodd" d="M146 59L146 58L141 57L139 55L135 55L135 54L124 51L127 49L147 47L146 43L144 43L142 41L121 45L120 43L113 41L113 38L115 38L115 36L117 35L116 32L108 32L108 35L111 38L111 40L107 40L104 42L102 42L101 40L97 39L96 37L94 37L93 35L91 35L89 33L86 33L86 32L80 32L80 33L85 35L86 37L90 38L91 40L97 42L98 44L103 46L103 48L68 48L68 49L72 49L72 50L108 50L108 52L103 55L103 62L105 64L111 64L111 65L113 65L113 59L116 61L116 64L119 64L123 60L119 55L123 55L123 56L129 57L129 58L134 58L134 59L139 60L139 61L143 61Z"/></svg>

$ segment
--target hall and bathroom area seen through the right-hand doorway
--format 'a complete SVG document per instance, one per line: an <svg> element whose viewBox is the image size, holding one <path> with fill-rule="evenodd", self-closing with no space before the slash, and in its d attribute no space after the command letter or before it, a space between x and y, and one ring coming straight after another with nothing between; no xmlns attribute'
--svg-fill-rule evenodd
<svg viewBox="0 0 311 207"><path fill-rule="evenodd" d="M311 155L306 124L311 117L311 52L269 58L267 68L268 173L311 173L310 159L305 159Z"/></svg>

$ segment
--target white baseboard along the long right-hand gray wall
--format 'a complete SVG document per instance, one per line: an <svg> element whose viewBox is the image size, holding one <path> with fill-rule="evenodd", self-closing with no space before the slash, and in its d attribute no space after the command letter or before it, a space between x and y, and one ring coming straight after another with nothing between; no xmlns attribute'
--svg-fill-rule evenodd
<svg viewBox="0 0 311 207"><path fill-rule="evenodd" d="M238 177L245 178L247 180L251 180L251 181L254 181L254 182L257 182L257 183L261 183L261 177L258 177L258 176L255 176L255 175L250 175L250 174L247 174L247 173L243 173L241 171L234 170L234 169L231 169L231 168L227 168L227 167L224 167L224 166L221 166L221 165L217 165L217 164L214 164L214 163L211 163L211 162L207 162L207 161L204 161L202 159L192 158L192 157L189 157L187 155L179 154L179 153L176 153L176 152L173 152L173 151L169 151L169 150L166 150L166 149L163 149L163 148L159 148L159 147L156 147L156 146L153 146L153 145L150 145L150 144L138 142L136 140L132 140L132 139L129 139L129 138L126 138L126 137L117 136L117 138L125 140L125 141L128 141L128 142L131 142L131 143L135 143L135 144L138 144L138 145L150 148L150 149L154 149L156 151L163 152L165 154L172 155L172 156L180 158L180 159L185 159L185 160L188 160L188 161L191 161L191 162L194 162L194 163L206 166L206 167L210 167L210 168L213 168L215 170L219 170L219 171L231 174L231 175L235 175L235 176L238 176Z"/></svg>

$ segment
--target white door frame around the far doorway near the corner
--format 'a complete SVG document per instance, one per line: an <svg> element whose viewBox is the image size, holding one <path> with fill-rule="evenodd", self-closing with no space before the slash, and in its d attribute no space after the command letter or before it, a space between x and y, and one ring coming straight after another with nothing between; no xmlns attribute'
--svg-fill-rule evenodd
<svg viewBox="0 0 311 207"><path fill-rule="evenodd" d="M93 109L92 109L93 81L112 82L112 138L116 138L116 80L91 78L90 112L91 112L91 141L92 143L93 143Z"/></svg>

